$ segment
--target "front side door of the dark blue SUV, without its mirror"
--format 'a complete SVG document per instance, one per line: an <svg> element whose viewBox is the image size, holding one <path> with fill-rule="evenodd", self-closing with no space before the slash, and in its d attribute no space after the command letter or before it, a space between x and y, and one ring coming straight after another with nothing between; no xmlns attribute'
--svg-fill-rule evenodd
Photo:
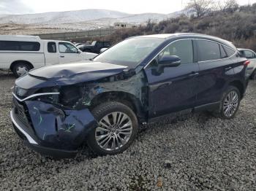
<svg viewBox="0 0 256 191"><path fill-rule="evenodd" d="M199 67L195 62L194 44L190 39L180 39L170 43L146 66L148 78L148 117L178 112L195 105L197 91L195 79ZM162 55L176 55L181 65L165 67L157 71L158 61Z"/></svg>

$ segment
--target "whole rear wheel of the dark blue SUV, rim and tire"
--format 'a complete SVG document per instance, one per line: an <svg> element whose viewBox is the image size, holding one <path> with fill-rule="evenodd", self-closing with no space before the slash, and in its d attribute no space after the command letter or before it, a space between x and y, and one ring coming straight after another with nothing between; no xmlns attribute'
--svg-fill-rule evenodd
<svg viewBox="0 0 256 191"><path fill-rule="evenodd" d="M222 119L231 119L236 115L241 101L241 94L237 87L229 86L222 95L219 111L215 114Z"/></svg>

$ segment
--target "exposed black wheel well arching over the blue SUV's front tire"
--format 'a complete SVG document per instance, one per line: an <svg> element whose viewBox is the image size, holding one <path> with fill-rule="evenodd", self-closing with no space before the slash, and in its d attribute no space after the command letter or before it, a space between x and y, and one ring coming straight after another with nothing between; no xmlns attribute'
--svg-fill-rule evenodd
<svg viewBox="0 0 256 191"><path fill-rule="evenodd" d="M94 97L91 101L90 109L98 106L107 101L118 101L122 104L129 106L133 112L138 116L138 120L144 120L145 114L143 113L143 106L138 98L135 95L125 92L105 92L100 93L96 97Z"/></svg>

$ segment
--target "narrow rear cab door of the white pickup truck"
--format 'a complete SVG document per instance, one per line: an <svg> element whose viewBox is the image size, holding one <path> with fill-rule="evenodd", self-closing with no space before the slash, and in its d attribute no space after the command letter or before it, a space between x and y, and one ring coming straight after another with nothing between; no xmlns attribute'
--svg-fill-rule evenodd
<svg viewBox="0 0 256 191"><path fill-rule="evenodd" d="M45 64L58 64L59 63L59 52L57 52L56 42L45 41Z"/></svg>

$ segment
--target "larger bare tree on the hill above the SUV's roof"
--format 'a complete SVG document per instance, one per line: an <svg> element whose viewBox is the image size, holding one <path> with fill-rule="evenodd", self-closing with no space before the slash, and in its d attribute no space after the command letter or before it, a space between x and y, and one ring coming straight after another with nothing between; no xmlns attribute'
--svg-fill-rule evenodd
<svg viewBox="0 0 256 191"><path fill-rule="evenodd" d="M202 17L214 9L214 3L211 0L190 0L187 9L189 13L195 14L195 17Z"/></svg>

